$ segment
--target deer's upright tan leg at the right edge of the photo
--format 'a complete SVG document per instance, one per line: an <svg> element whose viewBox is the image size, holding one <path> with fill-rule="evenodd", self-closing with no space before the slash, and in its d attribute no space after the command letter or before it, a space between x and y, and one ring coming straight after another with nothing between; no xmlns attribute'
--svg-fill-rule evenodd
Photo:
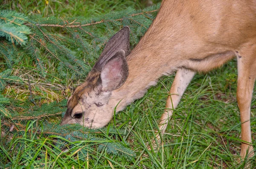
<svg viewBox="0 0 256 169"><path fill-rule="evenodd" d="M241 158L254 155L250 130L250 104L253 95L253 86L256 79L256 48L242 49L237 53L238 83L237 102L241 117ZM248 154L247 154L248 153Z"/></svg>

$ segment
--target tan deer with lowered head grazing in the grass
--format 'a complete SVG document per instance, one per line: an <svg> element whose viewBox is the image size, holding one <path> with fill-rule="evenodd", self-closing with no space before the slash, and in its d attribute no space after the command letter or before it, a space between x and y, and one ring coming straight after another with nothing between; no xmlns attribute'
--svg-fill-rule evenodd
<svg viewBox="0 0 256 169"><path fill-rule="evenodd" d="M160 134L164 133L195 73L237 58L240 156L254 155L250 104L256 80L255 0L163 0L131 52L129 34L129 27L124 26L105 45L84 83L68 99L61 125L104 127L114 109L121 111L143 97L161 76L176 72L159 123Z"/></svg>

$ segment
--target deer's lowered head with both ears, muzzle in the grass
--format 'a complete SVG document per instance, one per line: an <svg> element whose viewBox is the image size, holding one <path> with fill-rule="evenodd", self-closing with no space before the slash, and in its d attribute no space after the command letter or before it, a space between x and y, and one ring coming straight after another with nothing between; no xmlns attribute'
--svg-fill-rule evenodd
<svg viewBox="0 0 256 169"><path fill-rule="evenodd" d="M85 82L69 98L61 125L79 123L99 128L111 120L113 109L120 101L111 94L128 77L129 32L129 27L125 26L108 41Z"/></svg>

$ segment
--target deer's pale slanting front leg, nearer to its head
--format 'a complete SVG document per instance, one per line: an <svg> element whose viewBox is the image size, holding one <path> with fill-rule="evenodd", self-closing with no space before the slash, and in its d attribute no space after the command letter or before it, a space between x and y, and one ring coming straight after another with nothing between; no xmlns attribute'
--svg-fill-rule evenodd
<svg viewBox="0 0 256 169"><path fill-rule="evenodd" d="M169 119L172 117L173 109L175 109L180 102L180 98L183 95L186 87L189 85L190 81L194 77L195 72L188 69L179 69L176 73L172 87L169 92L169 96L166 100L166 109L161 117L159 123L159 129L161 133L164 133L168 125ZM159 139L159 135L157 135Z"/></svg>

